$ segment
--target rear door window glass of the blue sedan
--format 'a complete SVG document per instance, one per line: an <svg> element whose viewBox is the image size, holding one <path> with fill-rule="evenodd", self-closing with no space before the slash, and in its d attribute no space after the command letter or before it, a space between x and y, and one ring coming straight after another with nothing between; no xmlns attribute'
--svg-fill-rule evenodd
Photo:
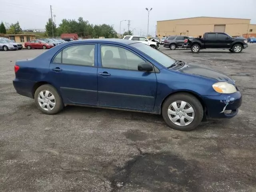
<svg viewBox="0 0 256 192"><path fill-rule="evenodd" d="M53 62L71 65L94 66L95 45L74 45L59 52Z"/></svg>

